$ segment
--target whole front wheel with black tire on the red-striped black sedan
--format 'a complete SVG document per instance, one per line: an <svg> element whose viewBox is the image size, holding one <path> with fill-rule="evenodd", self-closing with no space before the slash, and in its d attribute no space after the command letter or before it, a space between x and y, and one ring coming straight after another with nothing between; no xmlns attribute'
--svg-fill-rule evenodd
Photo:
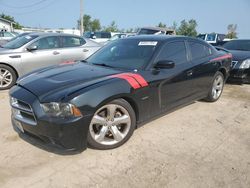
<svg viewBox="0 0 250 188"><path fill-rule="evenodd" d="M113 100L94 114L88 131L88 145L95 149L113 149L124 144L133 134L136 117L124 99Z"/></svg>

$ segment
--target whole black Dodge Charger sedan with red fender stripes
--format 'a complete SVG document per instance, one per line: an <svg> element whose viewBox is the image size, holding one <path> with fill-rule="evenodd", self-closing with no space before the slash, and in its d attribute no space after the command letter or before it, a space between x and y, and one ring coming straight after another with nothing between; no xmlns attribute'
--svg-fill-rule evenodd
<svg viewBox="0 0 250 188"><path fill-rule="evenodd" d="M230 54L199 39L120 39L87 61L20 78L10 90L13 127L63 150L115 148L153 117L218 100L230 65Z"/></svg>

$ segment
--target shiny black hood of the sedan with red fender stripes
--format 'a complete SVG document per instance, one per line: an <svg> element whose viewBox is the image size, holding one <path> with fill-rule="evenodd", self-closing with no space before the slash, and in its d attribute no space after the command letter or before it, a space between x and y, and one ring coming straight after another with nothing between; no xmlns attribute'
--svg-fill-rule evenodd
<svg viewBox="0 0 250 188"><path fill-rule="evenodd" d="M25 75L17 81L17 85L35 94L40 102L56 102L75 91L111 79L109 75L120 72L81 62L62 64Z"/></svg>

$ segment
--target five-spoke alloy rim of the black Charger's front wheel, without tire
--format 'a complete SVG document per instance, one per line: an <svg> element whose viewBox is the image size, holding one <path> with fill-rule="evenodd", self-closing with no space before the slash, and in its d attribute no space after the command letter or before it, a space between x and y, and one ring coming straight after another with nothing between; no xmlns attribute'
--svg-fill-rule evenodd
<svg viewBox="0 0 250 188"><path fill-rule="evenodd" d="M131 127L128 111L118 104L108 104L94 114L89 129L91 137L102 145L121 142Z"/></svg>

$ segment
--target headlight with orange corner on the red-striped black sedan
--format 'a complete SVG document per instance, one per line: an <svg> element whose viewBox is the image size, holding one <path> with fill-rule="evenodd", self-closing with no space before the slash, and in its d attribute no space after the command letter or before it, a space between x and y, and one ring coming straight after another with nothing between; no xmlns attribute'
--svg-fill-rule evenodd
<svg viewBox="0 0 250 188"><path fill-rule="evenodd" d="M67 117L81 117L81 111L75 107L73 104L69 103L43 103L41 104L42 109L44 112L50 117L60 117L60 118L67 118Z"/></svg>

